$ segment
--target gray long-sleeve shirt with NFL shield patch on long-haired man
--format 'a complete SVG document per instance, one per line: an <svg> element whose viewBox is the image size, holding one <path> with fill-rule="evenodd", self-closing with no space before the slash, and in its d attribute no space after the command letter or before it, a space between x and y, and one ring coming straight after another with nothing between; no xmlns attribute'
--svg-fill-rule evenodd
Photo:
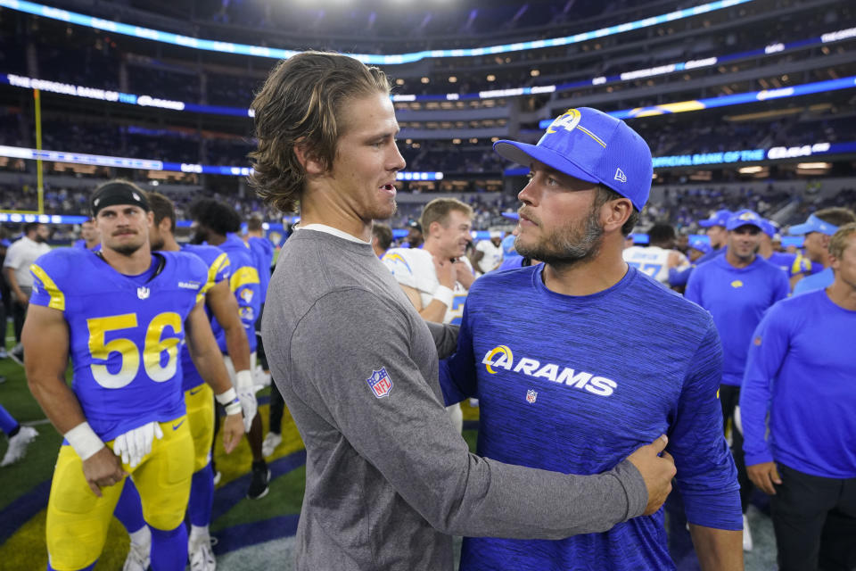
<svg viewBox="0 0 856 571"><path fill-rule="evenodd" d="M451 570L449 534L559 539L645 509L627 460L572 476L471 454L442 404L432 335L368 244L295 233L262 335L307 450L299 569Z"/></svg>

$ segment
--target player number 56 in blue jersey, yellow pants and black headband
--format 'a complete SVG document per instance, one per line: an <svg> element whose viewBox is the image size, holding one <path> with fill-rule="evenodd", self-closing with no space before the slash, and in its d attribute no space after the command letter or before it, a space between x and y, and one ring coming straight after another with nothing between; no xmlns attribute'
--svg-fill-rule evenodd
<svg viewBox="0 0 856 571"><path fill-rule="evenodd" d="M90 205L102 251L54 250L31 266L23 333L30 390L65 437L47 507L48 568L95 566L130 475L152 529L152 569L183 569L193 441L181 393L182 343L227 405L227 452L243 432L201 303L208 271L190 254L151 252L152 213L136 185L110 181Z"/></svg>

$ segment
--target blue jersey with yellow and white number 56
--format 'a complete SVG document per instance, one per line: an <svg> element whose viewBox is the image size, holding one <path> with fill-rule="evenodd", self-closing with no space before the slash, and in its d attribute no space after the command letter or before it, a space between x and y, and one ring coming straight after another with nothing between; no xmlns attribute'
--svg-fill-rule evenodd
<svg viewBox="0 0 856 571"><path fill-rule="evenodd" d="M213 285L202 260L158 252L143 275L125 276L95 252L63 248L30 271L30 303L62 311L68 323L72 390L104 442L184 414L185 319Z"/></svg>

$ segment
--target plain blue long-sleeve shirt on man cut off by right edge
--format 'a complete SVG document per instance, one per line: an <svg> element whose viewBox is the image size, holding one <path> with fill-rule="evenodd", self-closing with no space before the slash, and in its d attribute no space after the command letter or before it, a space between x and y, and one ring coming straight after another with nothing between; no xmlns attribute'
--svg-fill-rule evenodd
<svg viewBox="0 0 856 571"><path fill-rule="evenodd" d="M746 465L856 477L856 311L823 290L778 302L755 330L740 392ZM770 442L765 420L770 410Z"/></svg>

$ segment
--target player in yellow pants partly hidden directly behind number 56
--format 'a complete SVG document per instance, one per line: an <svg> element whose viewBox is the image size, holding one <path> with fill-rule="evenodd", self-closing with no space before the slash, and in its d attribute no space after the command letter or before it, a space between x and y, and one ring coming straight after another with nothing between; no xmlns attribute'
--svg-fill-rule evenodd
<svg viewBox="0 0 856 571"><path fill-rule="evenodd" d="M163 194L149 193L154 222L149 233L152 251L189 252L198 256L208 268L208 277L214 285L205 293L207 313L218 320L226 335L229 356L240 371L250 370L250 344L238 315L238 304L229 289L229 259L226 252L215 246L185 244L179 247L175 238L176 211L172 201ZM214 501L214 471L210 454L214 436L214 398L210 387L193 366L187 347L181 350L181 367L187 406L187 421L193 434L195 456L193 484L187 516L190 519L190 537L187 552L191 571L213 571L217 562L211 551L209 525ZM131 548L125 562L125 571L144 571L148 566L151 534L145 525L139 494L133 484L122 490L116 517L125 525L131 537Z"/></svg>

